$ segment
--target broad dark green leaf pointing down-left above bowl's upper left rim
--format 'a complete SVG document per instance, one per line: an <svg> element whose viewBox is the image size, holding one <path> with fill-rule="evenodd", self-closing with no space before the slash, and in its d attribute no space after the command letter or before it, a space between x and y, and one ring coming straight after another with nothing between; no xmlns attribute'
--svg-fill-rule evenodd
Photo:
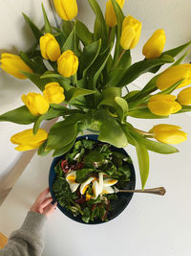
<svg viewBox="0 0 191 256"><path fill-rule="evenodd" d="M45 151L58 150L70 144L76 136L77 123L82 122L83 118L82 114L74 114L54 124L49 131Z"/></svg>

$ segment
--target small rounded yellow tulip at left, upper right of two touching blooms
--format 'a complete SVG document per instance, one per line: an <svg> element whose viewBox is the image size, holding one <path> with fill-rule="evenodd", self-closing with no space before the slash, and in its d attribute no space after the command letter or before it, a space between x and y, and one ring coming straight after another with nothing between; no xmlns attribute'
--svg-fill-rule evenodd
<svg viewBox="0 0 191 256"><path fill-rule="evenodd" d="M50 104L61 104L65 99L63 92L58 82L49 82L45 85L43 95Z"/></svg>

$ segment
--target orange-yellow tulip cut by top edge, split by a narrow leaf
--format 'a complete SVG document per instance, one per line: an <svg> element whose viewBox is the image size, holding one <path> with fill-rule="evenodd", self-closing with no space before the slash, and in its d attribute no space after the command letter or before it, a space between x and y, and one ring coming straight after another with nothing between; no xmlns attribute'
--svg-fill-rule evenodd
<svg viewBox="0 0 191 256"><path fill-rule="evenodd" d="M116 0L116 1L119 7L122 9L125 0ZM112 4L112 0L109 0L106 3L105 21L109 27L115 27L117 25L117 16Z"/></svg>

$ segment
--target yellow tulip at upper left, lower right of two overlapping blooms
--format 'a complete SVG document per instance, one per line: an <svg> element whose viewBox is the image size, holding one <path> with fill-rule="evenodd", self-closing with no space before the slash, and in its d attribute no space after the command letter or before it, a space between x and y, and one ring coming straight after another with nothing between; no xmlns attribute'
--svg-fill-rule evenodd
<svg viewBox="0 0 191 256"><path fill-rule="evenodd" d="M65 51L57 59L57 71L65 78L70 78L77 72L78 58L71 50Z"/></svg>

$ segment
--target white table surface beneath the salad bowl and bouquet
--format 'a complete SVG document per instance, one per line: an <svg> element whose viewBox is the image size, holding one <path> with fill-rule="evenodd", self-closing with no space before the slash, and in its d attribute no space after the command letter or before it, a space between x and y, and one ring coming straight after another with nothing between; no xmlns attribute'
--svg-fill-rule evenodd
<svg viewBox="0 0 191 256"><path fill-rule="evenodd" d="M134 119L132 119L133 122ZM156 121L137 121L150 128ZM191 119L174 115L169 124L180 124L189 131ZM135 123L136 125L136 123ZM180 152L171 155L150 153L151 171L147 187L164 186L164 197L135 194L129 206L113 221L98 225L80 224L58 209L47 221L46 256L190 256L191 255L191 172L190 139ZM137 173L133 147L128 147ZM0 231L10 235L24 221L32 201L48 185L52 156L35 155L0 207Z"/></svg>

